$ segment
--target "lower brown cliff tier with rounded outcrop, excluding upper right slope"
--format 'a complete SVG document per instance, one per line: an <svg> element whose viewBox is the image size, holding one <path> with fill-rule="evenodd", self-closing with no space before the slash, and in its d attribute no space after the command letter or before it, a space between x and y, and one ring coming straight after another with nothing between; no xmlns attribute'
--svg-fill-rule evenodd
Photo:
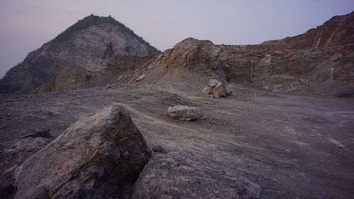
<svg viewBox="0 0 354 199"><path fill-rule="evenodd" d="M123 82L151 84L172 76L202 76L273 92L352 96L353 63L354 45L261 51L188 38L138 67Z"/></svg>

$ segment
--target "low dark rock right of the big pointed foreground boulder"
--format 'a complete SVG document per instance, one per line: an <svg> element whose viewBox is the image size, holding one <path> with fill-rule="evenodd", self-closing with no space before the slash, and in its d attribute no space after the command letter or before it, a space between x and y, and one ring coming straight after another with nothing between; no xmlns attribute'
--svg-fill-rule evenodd
<svg viewBox="0 0 354 199"><path fill-rule="evenodd" d="M183 157L154 154L139 175L132 198L260 198L258 184L226 176Z"/></svg>

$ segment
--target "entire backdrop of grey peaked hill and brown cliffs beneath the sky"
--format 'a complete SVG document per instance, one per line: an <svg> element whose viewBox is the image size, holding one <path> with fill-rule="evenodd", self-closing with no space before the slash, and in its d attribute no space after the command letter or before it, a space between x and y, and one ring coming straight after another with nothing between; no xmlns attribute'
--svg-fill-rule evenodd
<svg viewBox="0 0 354 199"><path fill-rule="evenodd" d="M170 84L171 79L186 84L188 78L198 86L214 78L272 92L354 96L353 33L354 12L334 16L302 35L260 45L214 45L187 38L157 54L113 18L88 16L11 69L0 80L0 91Z"/></svg>

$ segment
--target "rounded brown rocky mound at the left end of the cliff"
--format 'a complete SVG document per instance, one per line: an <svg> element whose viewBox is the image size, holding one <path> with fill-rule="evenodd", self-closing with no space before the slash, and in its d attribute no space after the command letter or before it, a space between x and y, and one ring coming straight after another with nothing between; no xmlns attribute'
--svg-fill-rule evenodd
<svg viewBox="0 0 354 199"><path fill-rule="evenodd" d="M187 38L179 42L172 49L165 50L155 59L137 67L135 72L120 79L125 84L151 84L154 81L164 81L172 76L193 74L193 76L205 76L205 74L224 75L219 70L220 47L207 40ZM137 81L140 76L144 79ZM223 76L224 77L224 76Z"/></svg>

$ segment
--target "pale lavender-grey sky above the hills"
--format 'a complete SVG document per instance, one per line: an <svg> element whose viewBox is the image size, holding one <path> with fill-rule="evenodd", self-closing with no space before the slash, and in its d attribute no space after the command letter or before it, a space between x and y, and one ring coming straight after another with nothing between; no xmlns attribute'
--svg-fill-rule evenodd
<svg viewBox="0 0 354 199"><path fill-rule="evenodd" d="M0 0L0 77L91 13L113 16L163 51L185 38L246 45L316 28L353 0Z"/></svg>

